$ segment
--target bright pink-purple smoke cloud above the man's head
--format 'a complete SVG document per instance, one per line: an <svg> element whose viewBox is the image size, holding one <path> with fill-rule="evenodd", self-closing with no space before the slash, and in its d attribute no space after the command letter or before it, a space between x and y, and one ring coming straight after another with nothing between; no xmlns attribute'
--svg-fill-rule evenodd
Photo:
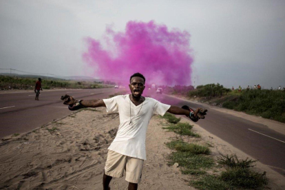
<svg viewBox="0 0 285 190"><path fill-rule="evenodd" d="M94 76L129 83L129 76L140 72L146 83L190 85L191 56L189 32L169 31L166 25L129 21L125 32L106 29L101 42L87 38L83 60L96 68Z"/></svg>

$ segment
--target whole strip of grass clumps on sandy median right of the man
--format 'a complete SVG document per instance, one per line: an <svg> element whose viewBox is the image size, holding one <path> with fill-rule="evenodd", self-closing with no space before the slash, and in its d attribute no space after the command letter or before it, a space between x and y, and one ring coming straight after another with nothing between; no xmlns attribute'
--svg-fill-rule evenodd
<svg viewBox="0 0 285 190"><path fill-rule="evenodd" d="M191 176L189 184L202 190L228 190L228 189L264 189L268 184L266 172L253 171L256 160L246 158L238 159L235 154L222 155L214 158L211 156L209 143L199 145L200 135L191 131L189 123L174 122L172 114L166 114L168 131L174 131L180 135L179 140L171 140L166 145L174 151L169 155L169 166L180 167L184 175ZM169 118L171 118L169 120ZM164 125L165 126L165 125ZM191 131L191 132L189 132ZM195 134L195 135L193 135ZM184 142L183 138L195 138L196 143ZM178 138L178 137L176 137ZM218 172L217 172L218 171Z"/></svg>

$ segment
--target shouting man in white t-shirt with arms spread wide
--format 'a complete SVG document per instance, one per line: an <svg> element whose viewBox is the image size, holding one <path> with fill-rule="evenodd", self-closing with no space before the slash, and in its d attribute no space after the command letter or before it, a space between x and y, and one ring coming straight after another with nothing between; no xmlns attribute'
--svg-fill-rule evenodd
<svg viewBox="0 0 285 190"><path fill-rule="evenodd" d="M93 101L74 100L72 96L65 95L64 104L70 110L82 107L106 107L107 112L118 112L120 125L116 138L109 146L105 172L103 175L103 189L110 189L109 182L112 177L123 177L126 171L128 189L138 189L142 177L142 167L147 159L145 151L145 138L149 120L155 114L163 116L166 112L178 115L187 115L198 118L200 108L195 112L182 109L173 105L166 105L154 98L142 96L145 89L145 77L136 73L130 77L129 89L131 94L114 96L113 98ZM195 121L197 121L196 119Z"/></svg>

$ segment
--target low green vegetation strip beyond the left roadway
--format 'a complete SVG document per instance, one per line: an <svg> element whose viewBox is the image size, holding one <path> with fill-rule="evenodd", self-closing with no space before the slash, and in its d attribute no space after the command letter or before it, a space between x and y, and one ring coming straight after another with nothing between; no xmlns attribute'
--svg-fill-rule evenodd
<svg viewBox="0 0 285 190"><path fill-rule="evenodd" d="M42 78L43 89L70 88L70 89L92 89L101 87L113 87L96 81L69 81L60 78ZM38 77L1 76L0 89L34 89Z"/></svg>

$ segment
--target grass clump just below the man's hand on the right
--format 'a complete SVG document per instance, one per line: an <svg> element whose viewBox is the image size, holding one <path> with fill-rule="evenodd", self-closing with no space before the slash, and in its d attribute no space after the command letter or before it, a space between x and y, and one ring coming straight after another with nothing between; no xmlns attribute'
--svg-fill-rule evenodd
<svg viewBox="0 0 285 190"><path fill-rule="evenodd" d="M162 129L167 129L169 131L173 131L176 134L180 135L200 137L199 134L196 134L193 131L191 131L192 127L193 125L189 125L189 123L178 123L176 125L172 124L169 127L162 127Z"/></svg>

